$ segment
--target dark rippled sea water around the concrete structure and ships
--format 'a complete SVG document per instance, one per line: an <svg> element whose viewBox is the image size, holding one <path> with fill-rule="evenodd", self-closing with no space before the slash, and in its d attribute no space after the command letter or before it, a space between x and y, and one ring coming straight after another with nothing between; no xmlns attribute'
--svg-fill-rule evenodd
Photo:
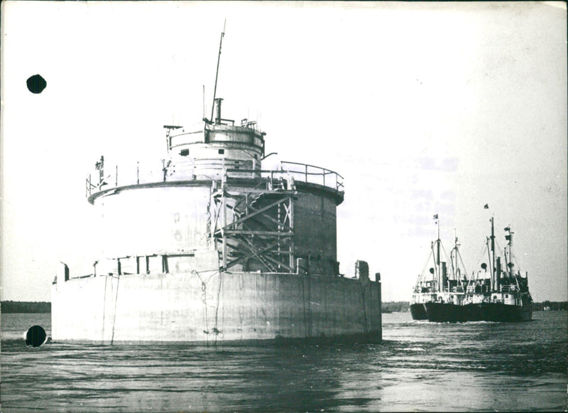
<svg viewBox="0 0 568 413"><path fill-rule="evenodd" d="M26 347L1 316L2 412L566 411L568 312L526 323L383 315L381 345Z"/></svg>

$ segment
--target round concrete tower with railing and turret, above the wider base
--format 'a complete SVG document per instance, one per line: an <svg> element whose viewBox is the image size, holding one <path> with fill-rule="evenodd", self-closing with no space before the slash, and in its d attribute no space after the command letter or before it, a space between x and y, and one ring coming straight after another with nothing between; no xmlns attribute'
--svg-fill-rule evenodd
<svg viewBox="0 0 568 413"><path fill-rule="evenodd" d="M223 119L221 102L202 129L165 126L169 157L157 167L97 162L87 199L109 234L97 272L339 274L342 176L293 162L263 170L264 132Z"/></svg>

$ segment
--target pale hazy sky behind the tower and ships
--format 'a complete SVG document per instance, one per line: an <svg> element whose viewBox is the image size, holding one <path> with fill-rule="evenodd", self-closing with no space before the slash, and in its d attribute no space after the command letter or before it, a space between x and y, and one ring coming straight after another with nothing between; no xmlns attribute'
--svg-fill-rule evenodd
<svg viewBox="0 0 568 413"><path fill-rule="evenodd" d="M432 215L469 274L493 215L533 298L568 299L564 2L2 7L1 299L50 300L59 261L92 271L85 177L101 155L165 156L162 126L200 122L202 85L210 111L225 18L223 115L258 120L267 153L344 176L342 272L364 259L383 301L408 300Z"/></svg>

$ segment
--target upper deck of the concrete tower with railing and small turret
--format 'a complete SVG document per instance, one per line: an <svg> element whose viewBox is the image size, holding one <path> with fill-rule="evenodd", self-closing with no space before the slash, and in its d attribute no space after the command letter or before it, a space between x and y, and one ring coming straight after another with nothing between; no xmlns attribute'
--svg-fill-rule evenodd
<svg viewBox="0 0 568 413"><path fill-rule="evenodd" d="M109 165L101 157L96 171L87 177L89 203L100 196L136 188L209 186L211 181L235 180L251 188L261 185L260 181L266 181L267 188L277 181L286 181L290 187L297 183L304 191L327 193L336 205L342 203L343 177L334 171L285 161L276 169L263 169L266 134L257 129L256 122L243 119L239 126L231 119L222 119L221 101L215 100L214 122L203 119L201 129L165 126L168 159Z"/></svg>

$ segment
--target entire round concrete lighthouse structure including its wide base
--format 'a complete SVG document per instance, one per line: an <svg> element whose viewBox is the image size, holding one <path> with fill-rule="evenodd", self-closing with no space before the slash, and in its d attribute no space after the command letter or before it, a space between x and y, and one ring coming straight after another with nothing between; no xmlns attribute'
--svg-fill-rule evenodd
<svg viewBox="0 0 568 413"><path fill-rule="evenodd" d="M220 50L220 48L219 48ZM89 343L381 340L381 283L366 262L339 274L343 178L280 162L263 169L256 122L165 125L151 168L102 156L86 180L102 255L92 274L65 264L52 288L52 339Z"/></svg>

